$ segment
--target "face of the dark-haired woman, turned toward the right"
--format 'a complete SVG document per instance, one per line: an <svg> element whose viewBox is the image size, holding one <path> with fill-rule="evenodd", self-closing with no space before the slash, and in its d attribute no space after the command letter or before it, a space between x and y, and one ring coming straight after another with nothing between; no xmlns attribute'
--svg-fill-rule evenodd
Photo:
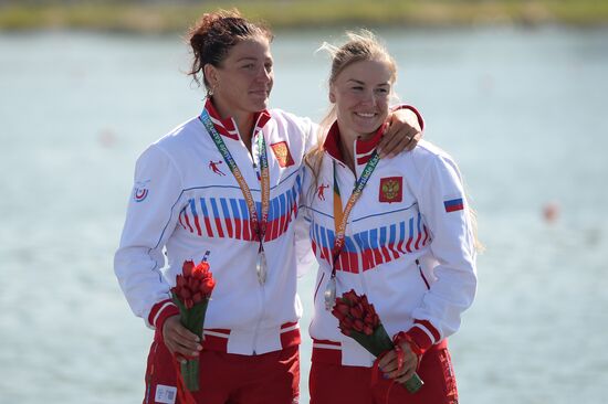
<svg viewBox="0 0 608 404"><path fill-rule="evenodd" d="M220 66L205 66L213 104L223 118L266 108L274 82L272 63L268 39L255 36L232 46Z"/></svg>

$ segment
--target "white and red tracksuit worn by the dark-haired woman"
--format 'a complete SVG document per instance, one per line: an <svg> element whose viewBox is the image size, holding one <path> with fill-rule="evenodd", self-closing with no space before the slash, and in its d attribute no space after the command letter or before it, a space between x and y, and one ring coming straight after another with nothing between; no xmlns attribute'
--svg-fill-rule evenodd
<svg viewBox="0 0 608 404"><path fill-rule="evenodd" d="M266 281L263 286L258 281L259 242L241 189L203 124L198 117L192 118L139 157L120 246L115 256L115 273L132 310L157 330L148 361L146 400L174 402L175 374L164 374L172 373L172 365L159 330L168 317L178 313L170 301L169 288L175 285L176 275L181 273L182 263L199 262L206 251L210 252L208 262L216 288L205 320L201 369L207 370L201 371L201 378L218 376L229 372L226 366L233 365L224 380L227 383L243 382L243 379L252 379L251 374L237 373L247 370L242 361L245 357L255 355L256 364L266 359L272 363L289 360L287 365L294 368L292 373L296 374L293 380L279 378L276 383L294 389L296 395L302 307L296 295L293 226L302 185L302 160L316 140L316 125L282 110L262 111L256 115L250 155L234 121L220 119L209 100L206 108L251 189L259 217L260 180L259 169L254 167L254 162L259 162L256 137L263 134L268 145L271 183L264 236ZM289 353L286 358L285 352ZM224 357L218 358L219 353ZM238 355L227 360L226 354ZM218 369L218 363L224 363L224 369ZM268 373L264 368L255 368L254 372ZM201 391L213 391L214 387L206 389L207 382L218 383L213 379L201 380ZM239 389L235 385L232 390ZM261 401L272 400L264 398L261 392L251 394ZM247 396L197 396L210 403L233 398L252 402Z"/></svg>

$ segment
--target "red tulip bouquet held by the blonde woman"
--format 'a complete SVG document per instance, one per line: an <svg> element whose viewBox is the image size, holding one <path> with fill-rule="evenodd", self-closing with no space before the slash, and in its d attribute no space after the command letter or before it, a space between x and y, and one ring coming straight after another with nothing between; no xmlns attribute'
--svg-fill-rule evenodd
<svg viewBox="0 0 608 404"><path fill-rule="evenodd" d="M338 319L342 333L353 338L374 357L381 358L395 349L395 343L388 337L374 305L367 301L367 296L358 296L350 289L336 299L332 315ZM422 380L415 373L402 386L416 393L422 384Z"/></svg>

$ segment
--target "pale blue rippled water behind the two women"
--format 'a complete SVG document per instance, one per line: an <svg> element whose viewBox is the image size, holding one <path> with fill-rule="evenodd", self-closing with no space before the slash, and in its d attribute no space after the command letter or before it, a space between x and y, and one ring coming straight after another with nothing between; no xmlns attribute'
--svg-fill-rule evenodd
<svg viewBox="0 0 608 404"><path fill-rule="evenodd" d="M608 30L379 33L401 102L459 161L486 247L450 340L461 402L605 403ZM273 106L323 115L314 50L337 39L276 33ZM188 61L177 35L0 34L1 403L140 401L151 331L112 259L137 155L201 107Z"/></svg>

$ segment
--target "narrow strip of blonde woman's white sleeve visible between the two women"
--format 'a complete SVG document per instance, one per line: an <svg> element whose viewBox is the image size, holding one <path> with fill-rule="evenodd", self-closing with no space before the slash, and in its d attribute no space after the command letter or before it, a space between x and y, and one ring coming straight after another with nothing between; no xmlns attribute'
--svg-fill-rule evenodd
<svg viewBox="0 0 608 404"><path fill-rule="evenodd" d="M302 189L300 190L300 202L297 206L297 215L294 224L294 247L295 257L297 264L297 276L305 275L314 265L315 256L313 254L313 247L311 243L311 217L310 211L306 204L306 198L310 190L310 176L308 170L304 167L301 168L302 176Z"/></svg>

